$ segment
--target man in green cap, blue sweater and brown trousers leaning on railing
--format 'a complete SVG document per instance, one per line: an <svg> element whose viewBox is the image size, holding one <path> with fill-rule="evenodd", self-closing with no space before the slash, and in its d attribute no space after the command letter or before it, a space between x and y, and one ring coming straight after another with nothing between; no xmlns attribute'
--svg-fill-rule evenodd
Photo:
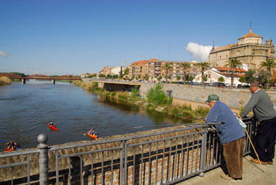
<svg viewBox="0 0 276 185"><path fill-rule="evenodd" d="M209 95L206 102L210 106L210 113L206 122L225 123L215 125L219 140L224 146L224 159L228 170L228 175L220 176L231 181L240 181L243 172L244 129L230 108L219 101L217 95Z"/></svg>

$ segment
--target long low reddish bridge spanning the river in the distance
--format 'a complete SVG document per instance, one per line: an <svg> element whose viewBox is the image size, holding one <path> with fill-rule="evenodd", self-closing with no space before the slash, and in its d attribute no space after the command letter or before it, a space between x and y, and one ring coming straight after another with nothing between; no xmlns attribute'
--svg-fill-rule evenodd
<svg viewBox="0 0 276 185"><path fill-rule="evenodd" d="M47 75L28 75L27 77L21 77L19 75L13 73L1 73L0 77L8 77L10 79L21 79L22 84L26 84L26 79L44 79L44 80L52 80L52 84L55 84L56 80L81 80L80 77L76 77L73 75L61 75L59 77L49 77Z"/></svg>

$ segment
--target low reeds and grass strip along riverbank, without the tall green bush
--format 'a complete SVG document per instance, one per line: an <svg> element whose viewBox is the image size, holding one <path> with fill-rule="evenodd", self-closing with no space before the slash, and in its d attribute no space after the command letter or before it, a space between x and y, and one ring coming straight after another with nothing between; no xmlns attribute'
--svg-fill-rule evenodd
<svg viewBox="0 0 276 185"><path fill-rule="evenodd" d="M168 104L158 105L150 103L149 99L143 99L139 97L139 92L135 89L132 92L110 92L104 88L98 88L98 84L95 82L85 82L85 81L73 81L72 84L79 86L85 90L92 93L98 93L100 95L105 95L106 97L121 99L127 101L129 104L137 104L149 110L156 110L179 119L189 119L191 121L204 121L205 117L209 113L209 108L204 106L198 106L195 110L192 109L190 104L184 104L182 106L172 106L171 101ZM163 92L164 93L164 92Z"/></svg>

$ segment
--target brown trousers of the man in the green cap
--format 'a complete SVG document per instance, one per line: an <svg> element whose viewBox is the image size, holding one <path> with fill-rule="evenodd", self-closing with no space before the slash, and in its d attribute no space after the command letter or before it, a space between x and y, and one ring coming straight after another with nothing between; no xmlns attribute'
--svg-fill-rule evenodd
<svg viewBox="0 0 276 185"><path fill-rule="evenodd" d="M242 177L243 164L242 157L244 154L244 137L233 142L223 144L224 159L227 166L228 174L233 178Z"/></svg>

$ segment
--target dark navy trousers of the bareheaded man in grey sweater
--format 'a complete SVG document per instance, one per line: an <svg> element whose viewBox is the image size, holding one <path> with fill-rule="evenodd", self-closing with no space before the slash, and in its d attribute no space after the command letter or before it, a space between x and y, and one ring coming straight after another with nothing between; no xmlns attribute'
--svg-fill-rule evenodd
<svg viewBox="0 0 276 185"><path fill-rule="evenodd" d="M262 162L273 162L275 155L276 117L259 122L255 149Z"/></svg>

